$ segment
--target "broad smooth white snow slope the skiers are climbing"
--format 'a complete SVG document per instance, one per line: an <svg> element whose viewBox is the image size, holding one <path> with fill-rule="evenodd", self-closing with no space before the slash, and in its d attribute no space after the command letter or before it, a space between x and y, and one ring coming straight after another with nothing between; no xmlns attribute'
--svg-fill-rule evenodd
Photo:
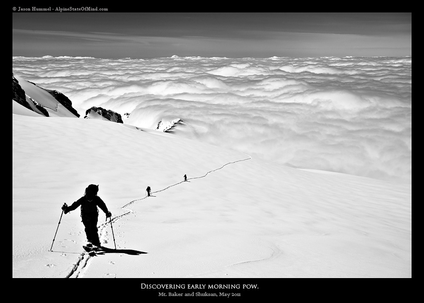
<svg viewBox="0 0 424 303"><path fill-rule="evenodd" d="M13 278L412 277L412 185L13 112ZM100 211L101 241L117 248L96 257L79 210L58 224L89 184L112 212L113 235Z"/></svg>

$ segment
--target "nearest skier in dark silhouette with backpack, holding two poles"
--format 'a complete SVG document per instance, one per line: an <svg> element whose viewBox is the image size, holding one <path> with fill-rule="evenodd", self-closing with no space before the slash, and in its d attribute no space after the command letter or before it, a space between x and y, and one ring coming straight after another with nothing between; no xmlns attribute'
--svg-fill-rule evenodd
<svg viewBox="0 0 424 303"><path fill-rule="evenodd" d="M99 216L99 210L97 207L100 207L106 214L106 218L112 216L110 211L108 211L106 204L99 196L97 196L98 191L98 185L90 184L85 189L83 197L72 203L71 206L67 206L66 203L62 206L62 210L65 214L73 211L78 206L81 206L81 218L88 241L87 247L91 247L93 250L97 250L100 246L99 235L97 233L97 219Z"/></svg>

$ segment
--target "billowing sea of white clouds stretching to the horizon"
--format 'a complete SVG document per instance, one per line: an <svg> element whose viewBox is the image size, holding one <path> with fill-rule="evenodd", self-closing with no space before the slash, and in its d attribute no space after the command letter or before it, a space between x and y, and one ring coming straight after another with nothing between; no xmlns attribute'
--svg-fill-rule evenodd
<svg viewBox="0 0 424 303"><path fill-rule="evenodd" d="M412 182L412 58L12 57L13 73L124 123L297 168Z"/></svg>

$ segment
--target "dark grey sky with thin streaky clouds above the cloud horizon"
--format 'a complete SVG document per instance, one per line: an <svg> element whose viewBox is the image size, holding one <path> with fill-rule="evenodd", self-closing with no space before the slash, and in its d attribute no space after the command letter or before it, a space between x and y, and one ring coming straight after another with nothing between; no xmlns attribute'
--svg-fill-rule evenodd
<svg viewBox="0 0 424 303"><path fill-rule="evenodd" d="M12 55L405 56L412 55L412 13L16 11Z"/></svg>

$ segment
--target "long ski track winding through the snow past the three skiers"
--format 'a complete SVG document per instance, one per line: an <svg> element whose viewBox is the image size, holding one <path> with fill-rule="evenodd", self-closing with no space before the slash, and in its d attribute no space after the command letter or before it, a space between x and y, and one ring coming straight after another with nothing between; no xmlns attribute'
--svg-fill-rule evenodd
<svg viewBox="0 0 424 303"><path fill-rule="evenodd" d="M193 178L187 178L187 180L193 180L193 179L200 179L200 178L204 178L204 177L206 177L209 173L212 173L212 172L214 172L214 171L220 170L220 169L224 168L226 165L233 164L233 163L237 163L237 162L241 162L241 161L246 161L246 160L250 160L250 159L251 159L251 157L250 157L249 155L246 155L246 156L248 156L248 158L246 158L246 159L242 159L242 160L237 160L237 161L234 161L234 162L228 162L228 163L226 163L226 164L222 165L221 167L219 167L219 168L217 168L217 169L214 169L214 170L211 170L211 171L207 172L207 173L206 173L205 175L203 175L203 176L200 176L200 177L193 177ZM164 191L164 190L167 190L167 189L169 189L169 188L171 188L171 187L173 187L173 186L179 185L179 184L184 183L184 182L186 182L186 181L181 181L181 182L179 182L179 183L176 183L176 184L170 185L170 186L168 186L168 187L166 187L166 188L164 188L164 189L158 190L158 191L156 191L156 192L152 192L151 194L162 192L162 191ZM129 206L129 205L131 205L131 204L133 204L133 203L134 203L134 202L136 202L136 201L144 200L144 199L146 199L146 198L148 198L148 197L149 197L149 196L146 196L146 197L141 198L141 199L136 199L136 200L133 200L133 201L131 201L131 202L129 202L129 203L127 203L127 204L125 204L123 207L121 207L121 209L123 209L123 210L128 210L128 212L127 212L127 213L125 213L125 214L122 214L122 215L120 215L120 216L116 216L115 218L110 219L110 220L111 220L112 222L116 222L116 221L118 221L119 219L121 219L122 217L125 217L125 216L127 216L127 215L129 215L129 214L133 213L133 212L134 212L133 210L131 210L131 209L126 209L126 207L127 207L127 206ZM101 224L100 226L98 226L98 232L99 232L99 234L100 234L99 238L102 238L102 236L106 233L106 227L107 227L107 225L108 225L108 224L110 224L110 221L109 221L109 222L107 222L107 221L106 221L105 223L103 223L103 224ZM68 274L68 275L66 275L66 277L65 277L65 278L80 278L80 277L83 277L83 276L84 276L85 271L87 270L88 266L90 265L90 261L91 261L91 258L92 258L92 257L93 257L93 256L90 256L90 255L89 255L88 253L86 253L86 252L81 253L81 256L79 257L79 259L77 260L77 262L76 262L76 263L72 266L71 271L69 272L69 274ZM256 260L256 261L260 261L260 260ZM255 262L255 261L247 261L247 262ZM235 265L236 265L236 264L235 264Z"/></svg>

